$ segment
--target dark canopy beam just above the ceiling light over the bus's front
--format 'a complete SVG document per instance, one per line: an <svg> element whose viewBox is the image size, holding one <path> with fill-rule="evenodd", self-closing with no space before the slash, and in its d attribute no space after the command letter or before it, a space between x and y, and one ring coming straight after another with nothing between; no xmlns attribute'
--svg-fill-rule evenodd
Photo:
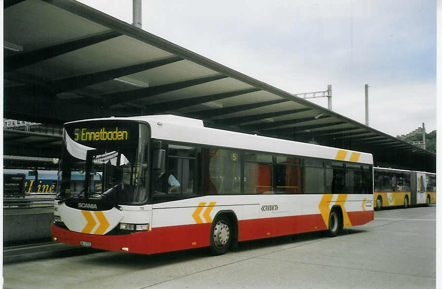
<svg viewBox="0 0 442 289"><path fill-rule="evenodd" d="M148 61L145 63L129 65L125 67L120 67L116 69L111 69L102 72L95 72L89 74L78 75L74 77L54 80L49 83L52 86L52 92L55 94L62 93L65 91L74 90L77 88L89 86L95 83L104 82L117 77L147 71L149 69L157 68L163 65L171 64L177 61L181 61L183 58L178 56L167 57L163 59L157 59Z"/></svg>

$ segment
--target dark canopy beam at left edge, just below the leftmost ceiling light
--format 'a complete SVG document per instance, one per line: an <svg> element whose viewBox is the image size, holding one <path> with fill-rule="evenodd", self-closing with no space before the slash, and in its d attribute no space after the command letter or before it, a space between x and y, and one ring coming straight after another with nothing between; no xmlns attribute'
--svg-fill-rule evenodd
<svg viewBox="0 0 442 289"><path fill-rule="evenodd" d="M27 65L31 65L121 35L122 35L121 33L115 31L111 32L108 31L101 34L96 34L93 36L88 36L81 39L75 39L61 44L56 44L49 47L44 47L33 51L28 51L8 56L3 59L4 61L3 72L9 72Z"/></svg>

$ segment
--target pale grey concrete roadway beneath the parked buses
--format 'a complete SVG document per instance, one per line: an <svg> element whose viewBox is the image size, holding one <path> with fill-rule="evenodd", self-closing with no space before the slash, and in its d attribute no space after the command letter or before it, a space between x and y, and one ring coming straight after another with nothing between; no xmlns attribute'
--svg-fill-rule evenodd
<svg viewBox="0 0 442 289"><path fill-rule="evenodd" d="M4 288L435 288L436 207L375 212L344 230L240 243L236 252L60 254L3 266Z"/></svg>

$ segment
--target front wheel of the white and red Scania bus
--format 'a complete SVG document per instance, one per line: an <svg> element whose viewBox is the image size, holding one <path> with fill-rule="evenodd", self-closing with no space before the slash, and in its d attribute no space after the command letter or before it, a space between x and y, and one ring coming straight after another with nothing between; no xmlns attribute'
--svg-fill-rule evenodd
<svg viewBox="0 0 442 289"><path fill-rule="evenodd" d="M212 225L210 237L210 253L225 254L232 242L232 225L227 217L218 217Z"/></svg>

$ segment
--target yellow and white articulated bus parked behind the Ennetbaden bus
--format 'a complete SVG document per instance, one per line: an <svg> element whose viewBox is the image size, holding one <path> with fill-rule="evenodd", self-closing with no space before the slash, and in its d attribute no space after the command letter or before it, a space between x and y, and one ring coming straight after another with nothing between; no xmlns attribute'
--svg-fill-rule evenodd
<svg viewBox="0 0 442 289"><path fill-rule="evenodd" d="M374 210L436 204L436 174L374 168Z"/></svg>

